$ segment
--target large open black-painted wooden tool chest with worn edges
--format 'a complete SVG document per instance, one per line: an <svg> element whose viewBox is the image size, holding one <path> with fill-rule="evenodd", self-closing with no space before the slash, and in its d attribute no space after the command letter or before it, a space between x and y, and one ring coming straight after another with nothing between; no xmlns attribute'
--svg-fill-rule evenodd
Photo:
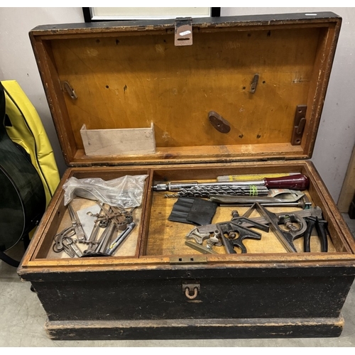
<svg viewBox="0 0 355 355"><path fill-rule="evenodd" d="M68 165L18 268L48 315L49 337L341 334L355 243L310 161L341 21L329 12L291 13L63 24L30 32ZM194 249L185 242L196 225L170 219L181 195L157 188L294 173L307 177L307 207L321 209L327 222L326 252L317 237L310 252L302 237L293 251L275 231L252 227L261 237L244 240L246 253L218 244L213 252ZM72 225L67 181L136 175L145 176L141 204L130 212L136 227L116 253L55 253L55 238ZM79 215L97 202L77 196L70 206ZM234 216L251 212L250 219L260 219L260 206L218 204L212 223L231 221L235 210ZM275 215L307 211L263 208ZM198 233L195 239L203 237Z"/></svg>

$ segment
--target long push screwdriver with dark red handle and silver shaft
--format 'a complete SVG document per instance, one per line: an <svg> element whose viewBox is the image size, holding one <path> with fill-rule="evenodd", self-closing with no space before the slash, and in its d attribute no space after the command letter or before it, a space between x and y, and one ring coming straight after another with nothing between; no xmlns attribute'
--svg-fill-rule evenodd
<svg viewBox="0 0 355 355"><path fill-rule="evenodd" d="M220 185L256 185L265 186L268 189L290 189L290 190L306 190L310 185L310 179L303 174L280 176L278 178L263 178L261 180L241 180L241 181L225 181L225 182L168 182L153 185L153 191L179 191L182 188L194 186L220 186Z"/></svg>

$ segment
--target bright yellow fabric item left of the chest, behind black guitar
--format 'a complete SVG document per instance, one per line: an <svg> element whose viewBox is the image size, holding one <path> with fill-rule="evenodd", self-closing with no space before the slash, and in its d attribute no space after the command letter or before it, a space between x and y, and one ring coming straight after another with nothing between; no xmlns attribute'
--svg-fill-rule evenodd
<svg viewBox="0 0 355 355"><path fill-rule="evenodd" d="M53 149L40 116L16 80L1 81L5 89L6 115L12 126L6 131L12 141L21 145L29 155L45 189L46 206L58 187L60 176Z"/></svg>

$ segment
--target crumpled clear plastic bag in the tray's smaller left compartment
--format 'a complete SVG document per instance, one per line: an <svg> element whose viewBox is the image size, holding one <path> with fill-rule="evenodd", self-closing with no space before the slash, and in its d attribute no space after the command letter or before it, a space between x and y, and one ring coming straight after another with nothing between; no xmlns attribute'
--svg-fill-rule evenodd
<svg viewBox="0 0 355 355"><path fill-rule="evenodd" d="M63 185L65 206L75 197L97 200L110 206L127 209L142 202L144 181L148 175L126 175L105 181L101 178L69 178Z"/></svg>

